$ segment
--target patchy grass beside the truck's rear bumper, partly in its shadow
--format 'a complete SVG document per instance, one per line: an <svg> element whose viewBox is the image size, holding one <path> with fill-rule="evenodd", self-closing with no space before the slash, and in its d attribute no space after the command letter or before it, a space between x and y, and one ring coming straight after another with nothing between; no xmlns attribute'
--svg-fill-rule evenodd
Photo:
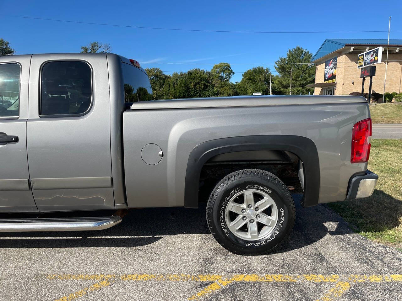
<svg viewBox="0 0 402 301"><path fill-rule="evenodd" d="M361 235L402 248L402 139L372 140L368 169L379 177L371 197L328 206Z"/></svg>

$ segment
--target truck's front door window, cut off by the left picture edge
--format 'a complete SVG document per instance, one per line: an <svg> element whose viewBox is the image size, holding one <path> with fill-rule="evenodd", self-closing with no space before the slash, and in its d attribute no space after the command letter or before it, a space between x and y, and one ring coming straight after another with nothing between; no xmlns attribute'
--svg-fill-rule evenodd
<svg viewBox="0 0 402 301"><path fill-rule="evenodd" d="M20 110L21 67L17 63L0 64L0 117L18 118Z"/></svg>

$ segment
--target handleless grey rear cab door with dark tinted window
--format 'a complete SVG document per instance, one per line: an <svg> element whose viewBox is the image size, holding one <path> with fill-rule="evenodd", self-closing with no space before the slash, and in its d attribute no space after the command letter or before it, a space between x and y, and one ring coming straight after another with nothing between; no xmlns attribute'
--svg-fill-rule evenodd
<svg viewBox="0 0 402 301"><path fill-rule="evenodd" d="M27 151L40 211L114 208L106 55L33 55Z"/></svg>

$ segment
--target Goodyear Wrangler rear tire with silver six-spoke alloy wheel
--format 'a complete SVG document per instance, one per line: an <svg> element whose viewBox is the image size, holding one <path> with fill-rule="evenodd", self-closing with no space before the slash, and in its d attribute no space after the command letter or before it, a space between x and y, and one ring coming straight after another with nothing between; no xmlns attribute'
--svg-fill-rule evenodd
<svg viewBox="0 0 402 301"><path fill-rule="evenodd" d="M244 169L215 186L206 216L209 230L224 248L259 255L283 243L296 212L291 193L279 178L261 169Z"/></svg>

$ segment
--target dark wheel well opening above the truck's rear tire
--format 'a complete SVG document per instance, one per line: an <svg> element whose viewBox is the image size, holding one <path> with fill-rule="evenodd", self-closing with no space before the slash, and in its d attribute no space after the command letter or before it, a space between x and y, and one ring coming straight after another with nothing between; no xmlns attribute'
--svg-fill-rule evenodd
<svg viewBox="0 0 402 301"><path fill-rule="evenodd" d="M246 150L211 157L199 178L199 201L207 201L212 189L226 175L241 169L263 169L286 184L291 193L304 193L303 164L285 150Z"/></svg>

